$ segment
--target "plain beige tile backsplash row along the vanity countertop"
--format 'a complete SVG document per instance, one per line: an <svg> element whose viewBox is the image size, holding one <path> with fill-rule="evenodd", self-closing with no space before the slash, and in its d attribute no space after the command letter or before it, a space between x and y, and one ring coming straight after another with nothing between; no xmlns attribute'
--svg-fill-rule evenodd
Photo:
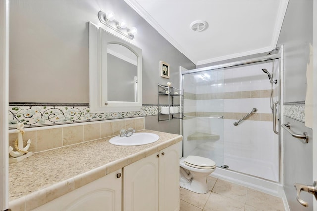
<svg viewBox="0 0 317 211"><path fill-rule="evenodd" d="M41 152L72 144L120 134L120 129L144 129L144 117L25 128L24 145L31 139L29 152ZM9 145L14 148L17 130L9 131Z"/></svg>

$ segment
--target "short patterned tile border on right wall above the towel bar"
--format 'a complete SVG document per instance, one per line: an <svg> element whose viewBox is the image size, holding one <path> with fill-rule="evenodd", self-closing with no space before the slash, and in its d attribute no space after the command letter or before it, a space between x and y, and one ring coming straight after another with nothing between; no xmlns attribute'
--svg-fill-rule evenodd
<svg viewBox="0 0 317 211"><path fill-rule="evenodd" d="M285 103L284 116L305 122L305 102Z"/></svg>

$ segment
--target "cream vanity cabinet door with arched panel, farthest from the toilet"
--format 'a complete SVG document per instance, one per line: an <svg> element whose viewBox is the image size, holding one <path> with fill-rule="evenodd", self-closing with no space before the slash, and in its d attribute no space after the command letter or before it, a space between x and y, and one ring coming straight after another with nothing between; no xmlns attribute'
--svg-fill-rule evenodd
<svg viewBox="0 0 317 211"><path fill-rule="evenodd" d="M122 170L115 171L34 211L121 211ZM118 178L119 177L119 178Z"/></svg>

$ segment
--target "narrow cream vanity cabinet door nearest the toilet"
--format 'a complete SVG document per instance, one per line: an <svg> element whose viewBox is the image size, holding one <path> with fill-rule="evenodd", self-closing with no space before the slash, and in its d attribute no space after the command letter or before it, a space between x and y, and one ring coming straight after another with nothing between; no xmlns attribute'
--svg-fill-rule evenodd
<svg viewBox="0 0 317 211"><path fill-rule="evenodd" d="M179 211L179 144L159 152L160 211Z"/></svg>

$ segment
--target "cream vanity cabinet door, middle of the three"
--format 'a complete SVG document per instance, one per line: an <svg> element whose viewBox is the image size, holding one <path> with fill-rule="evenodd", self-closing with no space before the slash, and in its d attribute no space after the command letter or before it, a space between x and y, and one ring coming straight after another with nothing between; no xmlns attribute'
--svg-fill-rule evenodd
<svg viewBox="0 0 317 211"><path fill-rule="evenodd" d="M123 168L123 210L159 210L159 152Z"/></svg>

